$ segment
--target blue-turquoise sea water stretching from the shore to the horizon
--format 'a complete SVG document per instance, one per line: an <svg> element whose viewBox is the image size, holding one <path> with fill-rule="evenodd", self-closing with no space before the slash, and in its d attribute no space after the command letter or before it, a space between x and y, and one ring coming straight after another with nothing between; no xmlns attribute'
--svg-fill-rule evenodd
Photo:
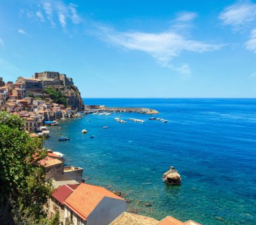
<svg viewBox="0 0 256 225"><path fill-rule="evenodd" d="M256 99L85 99L86 104L142 106L150 115L120 113L61 121L45 146L84 168L87 183L121 191L129 211L158 220L174 216L201 224L256 224ZM108 126L108 129L102 129ZM87 134L82 134L87 129ZM67 135L70 141L58 141ZM95 135L90 139L90 135ZM181 187L163 183L170 166ZM146 207L145 203L152 203Z"/></svg>

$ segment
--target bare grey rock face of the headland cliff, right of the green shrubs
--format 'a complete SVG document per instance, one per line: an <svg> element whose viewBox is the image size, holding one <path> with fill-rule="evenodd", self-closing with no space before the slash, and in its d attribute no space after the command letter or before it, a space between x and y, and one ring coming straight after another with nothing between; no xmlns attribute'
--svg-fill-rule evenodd
<svg viewBox="0 0 256 225"><path fill-rule="evenodd" d="M71 110L84 110L84 102L76 86L53 86L52 88L61 91L62 96L67 98L67 106L70 106Z"/></svg>

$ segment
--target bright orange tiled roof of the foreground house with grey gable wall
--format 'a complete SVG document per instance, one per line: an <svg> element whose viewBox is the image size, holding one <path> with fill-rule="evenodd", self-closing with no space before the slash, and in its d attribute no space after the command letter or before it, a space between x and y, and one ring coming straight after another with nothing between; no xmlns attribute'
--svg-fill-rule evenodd
<svg viewBox="0 0 256 225"><path fill-rule="evenodd" d="M67 197L64 204L83 220L86 220L104 197L125 201L125 199L104 189L104 187L81 183L77 189Z"/></svg>

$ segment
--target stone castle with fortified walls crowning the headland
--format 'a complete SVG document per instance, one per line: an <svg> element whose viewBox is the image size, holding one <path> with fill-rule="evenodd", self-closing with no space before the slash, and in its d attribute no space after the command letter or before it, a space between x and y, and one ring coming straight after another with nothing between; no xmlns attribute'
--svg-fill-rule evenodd
<svg viewBox="0 0 256 225"><path fill-rule="evenodd" d="M73 85L73 79L67 77L64 73L54 71L44 71L41 73L34 73L34 79L40 79L44 87L49 86L70 86Z"/></svg>

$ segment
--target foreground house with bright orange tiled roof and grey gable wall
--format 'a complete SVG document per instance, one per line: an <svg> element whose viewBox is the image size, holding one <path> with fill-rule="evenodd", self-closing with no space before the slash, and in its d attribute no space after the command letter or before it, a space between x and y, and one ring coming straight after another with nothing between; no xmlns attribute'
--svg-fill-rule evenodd
<svg viewBox="0 0 256 225"><path fill-rule="evenodd" d="M107 225L126 211L122 197L94 185L81 183L65 199L65 218L74 225Z"/></svg>

